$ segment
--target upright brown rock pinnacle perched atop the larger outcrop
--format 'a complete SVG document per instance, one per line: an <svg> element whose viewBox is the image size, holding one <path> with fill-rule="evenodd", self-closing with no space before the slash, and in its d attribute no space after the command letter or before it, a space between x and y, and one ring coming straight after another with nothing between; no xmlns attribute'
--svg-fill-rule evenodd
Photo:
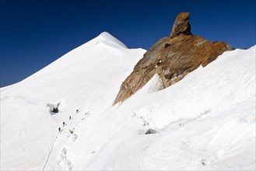
<svg viewBox="0 0 256 171"><path fill-rule="evenodd" d="M177 15L174 26L170 33L170 38L179 36L180 34L192 35L191 25L189 21L189 12L181 12Z"/></svg>

